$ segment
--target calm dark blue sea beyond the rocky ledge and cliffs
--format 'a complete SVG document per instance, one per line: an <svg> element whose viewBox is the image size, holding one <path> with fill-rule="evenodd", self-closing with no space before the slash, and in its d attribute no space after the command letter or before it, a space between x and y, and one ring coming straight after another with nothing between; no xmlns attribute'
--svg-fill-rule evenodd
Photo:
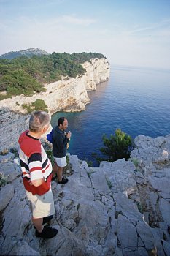
<svg viewBox="0 0 170 256"><path fill-rule="evenodd" d="M79 159L96 162L91 156L103 146L102 135L109 137L115 129L135 138L152 138L170 134L170 70L135 67L112 67L110 80L89 91L91 103L80 113L53 114L69 121L72 139L69 153Z"/></svg>

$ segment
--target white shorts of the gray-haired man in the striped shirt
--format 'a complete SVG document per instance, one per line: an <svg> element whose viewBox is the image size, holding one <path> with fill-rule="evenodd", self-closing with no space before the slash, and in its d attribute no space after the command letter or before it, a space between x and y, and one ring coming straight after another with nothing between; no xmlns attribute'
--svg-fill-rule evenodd
<svg viewBox="0 0 170 256"><path fill-rule="evenodd" d="M26 190L26 196L31 202L31 211L34 218L44 218L55 214L51 189L44 195L32 195L31 192Z"/></svg>

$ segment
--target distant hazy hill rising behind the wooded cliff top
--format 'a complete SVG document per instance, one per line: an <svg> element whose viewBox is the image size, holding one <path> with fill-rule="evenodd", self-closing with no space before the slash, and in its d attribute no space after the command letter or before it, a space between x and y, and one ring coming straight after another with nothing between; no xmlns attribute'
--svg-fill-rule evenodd
<svg viewBox="0 0 170 256"><path fill-rule="evenodd" d="M30 49L26 49L26 50L19 50L19 51L11 51L9 53L4 53L0 56L0 59L14 59L14 58L18 58L20 56L42 56L42 55L48 55L49 53L47 53L45 50L41 50L39 48L30 48Z"/></svg>

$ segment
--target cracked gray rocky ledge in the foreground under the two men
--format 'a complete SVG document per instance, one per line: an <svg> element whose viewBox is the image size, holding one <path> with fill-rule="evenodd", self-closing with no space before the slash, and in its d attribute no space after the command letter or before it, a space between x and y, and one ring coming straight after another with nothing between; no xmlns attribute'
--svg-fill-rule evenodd
<svg viewBox="0 0 170 256"><path fill-rule="evenodd" d="M88 167L69 156L69 183L52 183L58 234L36 238L14 153L1 156L1 255L170 255L170 135L139 135L131 159ZM69 173L70 172L70 173Z"/></svg>

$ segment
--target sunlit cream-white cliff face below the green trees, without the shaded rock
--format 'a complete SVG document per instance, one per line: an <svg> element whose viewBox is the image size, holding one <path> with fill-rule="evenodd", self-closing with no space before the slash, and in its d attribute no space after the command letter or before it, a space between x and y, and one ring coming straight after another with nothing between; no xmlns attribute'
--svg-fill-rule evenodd
<svg viewBox="0 0 170 256"><path fill-rule="evenodd" d="M85 105L90 102L88 90L95 90L96 84L109 80L109 62L107 59L91 59L85 62L85 75L81 78L70 78L45 85L46 92L41 92L32 97L23 95L4 99L0 102L0 108L25 113L22 104L34 102L36 99L43 99L48 106L50 113L57 111L81 111L85 110Z"/></svg>

